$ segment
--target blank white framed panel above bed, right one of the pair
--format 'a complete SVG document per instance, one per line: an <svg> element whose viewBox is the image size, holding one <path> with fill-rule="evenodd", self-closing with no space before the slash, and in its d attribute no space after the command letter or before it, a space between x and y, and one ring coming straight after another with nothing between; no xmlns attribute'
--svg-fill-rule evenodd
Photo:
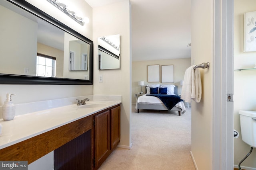
<svg viewBox="0 0 256 170"><path fill-rule="evenodd" d="M162 83L174 83L174 65L162 65L161 71Z"/></svg>

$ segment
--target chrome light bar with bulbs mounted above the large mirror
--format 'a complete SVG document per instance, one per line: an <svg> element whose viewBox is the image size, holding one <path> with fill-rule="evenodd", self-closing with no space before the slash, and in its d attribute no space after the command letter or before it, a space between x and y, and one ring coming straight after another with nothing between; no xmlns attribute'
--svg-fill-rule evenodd
<svg viewBox="0 0 256 170"><path fill-rule="evenodd" d="M47 0L54 6L56 6L59 10L67 14L70 18L75 20L76 22L80 23L81 25L84 25L84 20L81 17L76 16L76 13L74 11L68 10L67 6L63 3L58 2L57 0Z"/></svg>

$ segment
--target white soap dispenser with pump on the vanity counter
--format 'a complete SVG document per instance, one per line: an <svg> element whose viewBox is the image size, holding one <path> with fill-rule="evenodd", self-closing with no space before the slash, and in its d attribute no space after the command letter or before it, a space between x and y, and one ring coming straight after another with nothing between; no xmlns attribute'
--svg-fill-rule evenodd
<svg viewBox="0 0 256 170"><path fill-rule="evenodd" d="M12 95L16 96L16 94L6 94L6 102L2 106L2 117L4 121L12 120L15 116L15 106L12 102Z"/></svg>

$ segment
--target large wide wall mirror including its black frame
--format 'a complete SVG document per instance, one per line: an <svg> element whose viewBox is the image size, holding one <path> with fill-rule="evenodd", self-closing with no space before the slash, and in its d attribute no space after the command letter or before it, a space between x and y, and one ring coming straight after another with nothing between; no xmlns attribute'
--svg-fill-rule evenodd
<svg viewBox="0 0 256 170"><path fill-rule="evenodd" d="M0 84L92 84L90 39L25 0L0 0L0 22Z"/></svg>

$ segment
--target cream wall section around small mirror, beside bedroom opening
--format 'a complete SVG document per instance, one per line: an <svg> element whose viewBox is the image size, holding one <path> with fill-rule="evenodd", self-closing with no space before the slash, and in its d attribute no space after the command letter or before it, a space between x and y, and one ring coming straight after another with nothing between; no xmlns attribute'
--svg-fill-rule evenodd
<svg viewBox="0 0 256 170"><path fill-rule="evenodd" d="M93 8L94 94L122 95L120 147L130 148L131 40L130 2ZM98 70L98 37L120 34L120 69ZM103 82L99 82L99 75Z"/></svg>

